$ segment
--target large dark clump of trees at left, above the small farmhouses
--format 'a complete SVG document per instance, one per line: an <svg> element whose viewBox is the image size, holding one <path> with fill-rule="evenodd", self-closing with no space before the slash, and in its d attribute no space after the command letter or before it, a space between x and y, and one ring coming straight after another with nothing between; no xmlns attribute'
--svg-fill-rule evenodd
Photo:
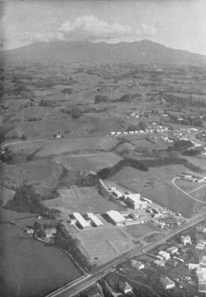
<svg viewBox="0 0 206 297"><path fill-rule="evenodd" d="M5 204L5 209L42 214L44 217L50 217L51 219L54 219L59 212L44 206L41 195L35 192L32 185L28 184L23 184L16 189L13 199L8 200Z"/></svg>

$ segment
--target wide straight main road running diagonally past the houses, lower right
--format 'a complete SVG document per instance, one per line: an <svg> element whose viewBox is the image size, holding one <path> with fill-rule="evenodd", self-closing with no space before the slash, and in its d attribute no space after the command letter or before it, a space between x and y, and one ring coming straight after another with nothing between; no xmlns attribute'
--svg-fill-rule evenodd
<svg viewBox="0 0 206 297"><path fill-rule="evenodd" d="M70 287L63 288L62 290L58 289L58 292L54 292L54 294L49 294L45 297L74 297L82 290L87 289L91 285L93 285L95 282L97 282L100 278L106 276L109 272L112 272L114 270L114 267L116 267L118 264L122 263L126 259L129 259L133 256L139 256L142 253L148 252L152 248L155 248L156 245L159 245L163 243L164 241L167 241L170 239L170 237L178 234L179 232L183 232L187 228L192 227L193 225L196 225L197 223L200 223L205 219L206 212L202 212L201 214L197 214L193 219L190 221L187 221L184 225L181 225L180 227L176 228L176 230L172 230L168 234L165 234L161 239L157 239L156 241L153 241L152 243L149 243L146 245L146 247L142 248L133 248L132 250L128 251L125 254L117 256L113 261L110 261L106 267L104 267L100 272L97 272L93 275L87 276L87 278L83 278L78 283L74 283Z"/></svg>

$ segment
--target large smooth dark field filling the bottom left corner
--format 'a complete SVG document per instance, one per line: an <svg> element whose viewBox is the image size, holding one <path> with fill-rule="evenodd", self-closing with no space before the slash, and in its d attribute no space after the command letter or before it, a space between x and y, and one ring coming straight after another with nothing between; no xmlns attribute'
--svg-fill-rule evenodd
<svg viewBox="0 0 206 297"><path fill-rule="evenodd" d="M0 226L1 296L45 296L81 275L65 253L33 239L16 239L18 232L12 225Z"/></svg>

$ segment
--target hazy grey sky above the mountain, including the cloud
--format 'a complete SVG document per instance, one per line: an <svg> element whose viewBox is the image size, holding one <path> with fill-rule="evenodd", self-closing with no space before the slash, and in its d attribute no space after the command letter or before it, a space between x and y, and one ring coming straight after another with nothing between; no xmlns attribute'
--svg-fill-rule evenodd
<svg viewBox="0 0 206 297"><path fill-rule="evenodd" d="M1 49L36 41L148 39L206 55L206 0L1 1Z"/></svg>

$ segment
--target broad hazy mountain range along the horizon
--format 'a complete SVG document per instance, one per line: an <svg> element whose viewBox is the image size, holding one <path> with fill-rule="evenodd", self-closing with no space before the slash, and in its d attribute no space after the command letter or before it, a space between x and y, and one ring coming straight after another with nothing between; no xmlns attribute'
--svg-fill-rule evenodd
<svg viewBox="0 0 206 297"><path fill-rule="evenodd" d="M132 62L206 63L206 56L185 50L174 50L148 40L116 44L91 43L89 41L58 41L33 43L14 50L1 52L3 58L22 61L67 62Z"/></svg>

